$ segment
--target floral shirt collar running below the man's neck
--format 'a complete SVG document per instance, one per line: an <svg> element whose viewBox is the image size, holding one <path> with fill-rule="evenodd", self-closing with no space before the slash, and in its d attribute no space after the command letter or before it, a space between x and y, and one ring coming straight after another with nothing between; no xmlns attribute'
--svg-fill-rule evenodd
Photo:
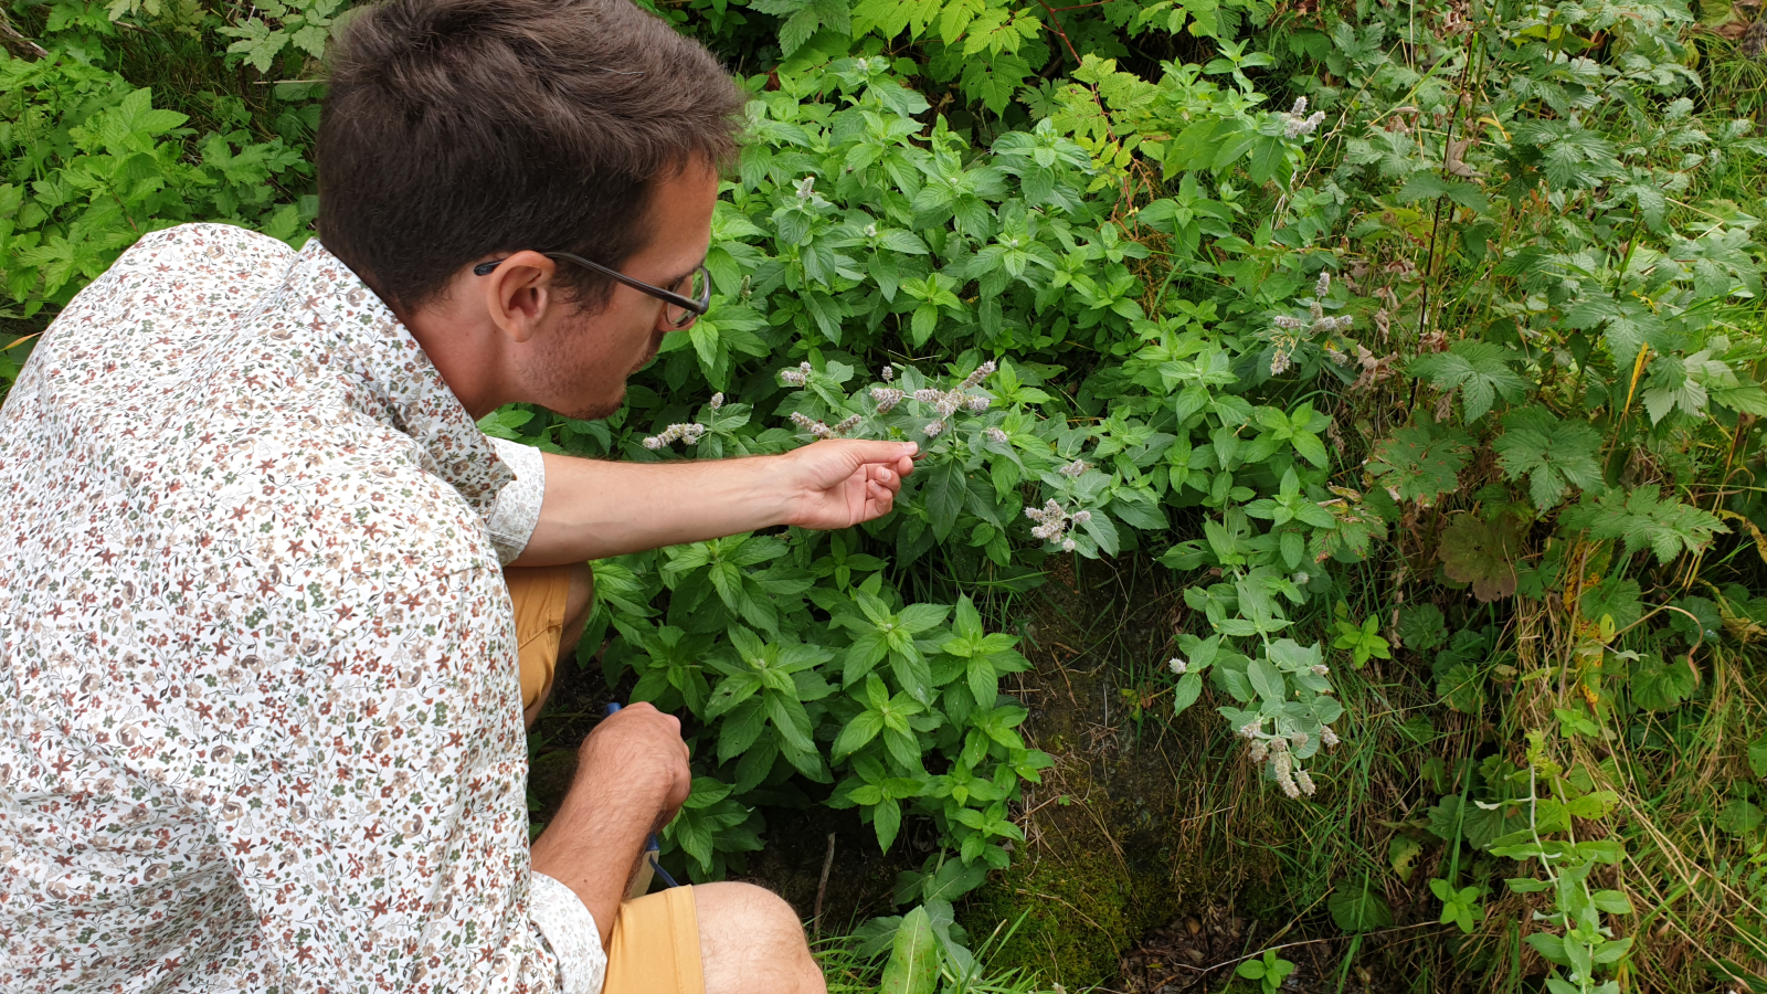
<svg viewBox="0 0 1767 994"><path fill-rule="evenodd" d="M488 515L514 474L422 345L368 283L311 239L290 269L283 301L299 315L302 338L318 347L315 361L350 370L352 407L410 435L422 469Z"/></svg>

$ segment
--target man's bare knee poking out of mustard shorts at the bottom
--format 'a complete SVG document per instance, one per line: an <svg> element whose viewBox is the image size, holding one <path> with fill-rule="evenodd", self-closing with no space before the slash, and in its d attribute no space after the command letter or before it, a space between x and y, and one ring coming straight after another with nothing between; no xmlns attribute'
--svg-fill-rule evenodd
<svg viewBox="0 0 1767 994"><path fill-rule="evenodd" d="M693 888L705 994L822 994L804 923L779 895L755 884Z"/></svg>

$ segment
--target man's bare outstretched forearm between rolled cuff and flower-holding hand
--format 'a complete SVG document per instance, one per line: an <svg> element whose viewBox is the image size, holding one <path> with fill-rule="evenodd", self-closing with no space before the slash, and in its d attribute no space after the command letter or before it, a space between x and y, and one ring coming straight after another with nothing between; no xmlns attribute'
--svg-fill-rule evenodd
<svg viewBox="0 0 1767 994"><path fill-rule="evenodd" d="M624 463L546 453L539 524L514 566L555 566L785 524L777 456Z"/></svg>

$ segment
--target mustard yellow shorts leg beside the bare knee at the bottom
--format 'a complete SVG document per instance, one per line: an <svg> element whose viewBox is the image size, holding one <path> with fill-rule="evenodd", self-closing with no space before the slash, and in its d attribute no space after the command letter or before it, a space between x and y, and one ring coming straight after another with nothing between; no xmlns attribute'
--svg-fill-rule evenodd
<svg viewBox="0 0 1767 994"><path fill-rule="evenodd" d="M627 900L608 939L603 994L705 994L693 888Z"/></svg>

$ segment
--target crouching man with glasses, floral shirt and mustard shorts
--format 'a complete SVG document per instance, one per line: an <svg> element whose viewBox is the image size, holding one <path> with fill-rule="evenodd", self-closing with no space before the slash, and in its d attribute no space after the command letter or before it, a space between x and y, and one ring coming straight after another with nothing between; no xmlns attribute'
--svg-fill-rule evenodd
<svg viewBox="0 0 1767 994"><path fill-rule="evenodd" d="M760 888L622 906L673 718L597 727L530 847L523 711L571 564L868 520L912 446L474 424L604 416L705 310L739 106L627 0L391 0L337 46L318 241L152 233L58 317L0 412L0 990L823 989Z"/></svg>

